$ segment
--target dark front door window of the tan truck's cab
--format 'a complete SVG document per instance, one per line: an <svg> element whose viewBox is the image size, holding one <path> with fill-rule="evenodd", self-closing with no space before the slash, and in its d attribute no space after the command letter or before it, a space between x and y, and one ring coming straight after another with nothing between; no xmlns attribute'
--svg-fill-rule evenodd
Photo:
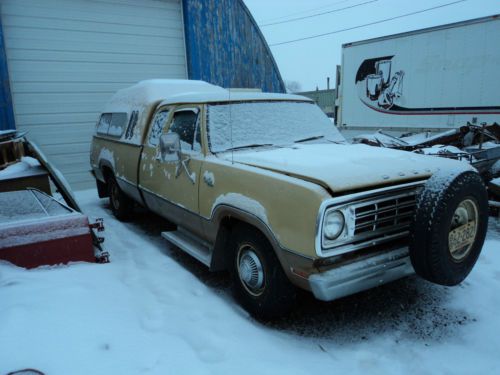
<svg viewBox="0 0 500 375"><path fill-rule="evenodd" d="M174 113L168 132L179 134L182 151L201 151L198 114L198 109L180 109Z"/></svg>

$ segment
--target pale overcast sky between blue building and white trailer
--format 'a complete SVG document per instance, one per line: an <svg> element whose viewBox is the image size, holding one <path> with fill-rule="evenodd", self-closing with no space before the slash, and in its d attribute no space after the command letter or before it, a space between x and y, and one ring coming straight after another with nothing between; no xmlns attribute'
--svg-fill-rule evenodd
<svg viewBox="0 0 500 375"><path fill-rule="evenodd" d="M500 0L465 0L428 12L296 43L275 43L323 34L420 11L457 0L244 0L271 46L283 79L297 81L302 90L326 88L326 77L335 85L335 66L341 46L382 35L417 30L500 13ZM366 3L363 5L362 4ZM350 9L330 12L340 8ZM317 17L263 26L264 24L330 12ZM499 48L498 36L492 48Z"/></svg>

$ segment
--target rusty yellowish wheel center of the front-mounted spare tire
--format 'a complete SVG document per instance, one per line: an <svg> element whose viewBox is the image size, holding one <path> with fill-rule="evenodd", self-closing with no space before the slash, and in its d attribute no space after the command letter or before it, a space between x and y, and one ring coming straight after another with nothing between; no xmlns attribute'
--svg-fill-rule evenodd
<svg viewBox="0 0 500 375"><path fill-rule="evenodd" d="M458 205L451 219L448 234L448 250L453 260L462 261L472 249L478 226L478 208L472 199L466 199Z"/></svg>

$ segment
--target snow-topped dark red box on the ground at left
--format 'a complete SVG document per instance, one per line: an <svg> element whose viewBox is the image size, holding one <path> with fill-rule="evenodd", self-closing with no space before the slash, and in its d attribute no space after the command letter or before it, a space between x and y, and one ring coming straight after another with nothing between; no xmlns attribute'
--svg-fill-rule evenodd
<svg viewBox="0 0 500 375"><path fill-rule="evenodd" d="M0 259L24 268L95 262L88 219L38 190L0 193Z"/></svg>

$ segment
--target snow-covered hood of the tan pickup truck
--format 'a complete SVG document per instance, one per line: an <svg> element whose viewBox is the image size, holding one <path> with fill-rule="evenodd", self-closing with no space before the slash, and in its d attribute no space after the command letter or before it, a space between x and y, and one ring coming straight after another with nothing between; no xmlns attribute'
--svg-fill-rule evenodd
<svg viewBox="0 0 500 375"><path fill-rule="evenodd" d="M366 145L297 144L226 154L234 162L317 183L334 193L429 177L455 160Z"/></svg>

